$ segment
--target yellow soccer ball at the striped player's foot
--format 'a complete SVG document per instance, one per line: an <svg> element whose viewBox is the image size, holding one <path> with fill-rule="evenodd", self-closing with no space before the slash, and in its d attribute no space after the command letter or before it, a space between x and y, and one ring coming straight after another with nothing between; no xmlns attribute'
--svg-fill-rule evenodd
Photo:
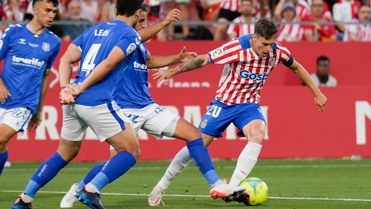
<svg viewBox="0 0 371 209"><path fill-rule="evenodd" d="M263 180L251 177L243 180L240 185L246 187L246 192L250 194L247 202L243 202L245 205L262 205L267 201L268 187Z"/></svg>

